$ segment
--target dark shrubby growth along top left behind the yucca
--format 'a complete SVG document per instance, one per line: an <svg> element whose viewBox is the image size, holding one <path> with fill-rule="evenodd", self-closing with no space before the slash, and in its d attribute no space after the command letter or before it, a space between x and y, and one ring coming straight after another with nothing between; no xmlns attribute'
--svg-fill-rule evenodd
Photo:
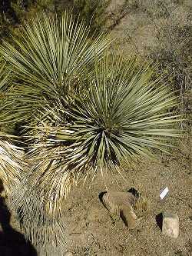
<svg viewBox="0 0 192 256"><path fill-rule="evenodd" d="M18 28L35 15L46 13L61 17L66 10L91 25L91 31L96 36L104 29L105 9L109 2L109 0L3 0L0 6L0 43L2 38L10 38L11 41L11 34L18 35Z"/></svg>

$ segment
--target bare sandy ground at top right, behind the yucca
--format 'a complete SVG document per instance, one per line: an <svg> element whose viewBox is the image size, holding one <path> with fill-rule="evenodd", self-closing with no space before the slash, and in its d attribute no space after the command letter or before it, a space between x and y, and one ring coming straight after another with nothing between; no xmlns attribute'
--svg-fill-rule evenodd
<svg viewBox="0 0 192 256"><path fill-rule="evenodd" d="M171 30L191 25L191 10L190 0L112 0L107 25L111 37L116 39L114 48L124 55L137 54L143 58L157 45L161 48L164 44L168 47L174 44L176 48L180 42L174 40Z"/></svg>

